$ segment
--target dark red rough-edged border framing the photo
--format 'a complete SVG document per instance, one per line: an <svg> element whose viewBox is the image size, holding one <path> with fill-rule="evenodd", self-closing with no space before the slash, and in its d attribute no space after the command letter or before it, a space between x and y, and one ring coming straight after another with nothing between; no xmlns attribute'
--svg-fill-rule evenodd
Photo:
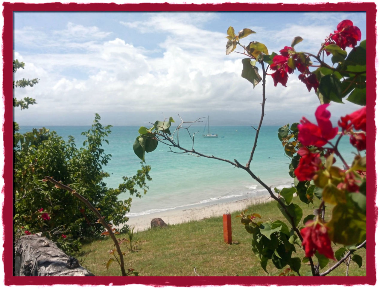
<svg viewBox="0 0 380 289"><path fill-rule="evenodd" d="M373 192L367 199L367 275L350 277L271 277L267 276L231 276L231 277L19 277L13 276L13 102L10 95L13 93L11 85L13 79L11 66L13 62L13 12L16 11L365 11L367 15L367 191ZM9 285L53 285L53 284L88 284L88 285L125 285L145 284L152 286L222 286L230 285L321 285L339 284L355 285L376 283L375 268L375 229L377 227L376 173L375 173L375 44L376 21L375 3L318 3L318 4L263 4L263 3L221 3L221 4L116 4L116 3L3 3L3 101L4 101L4 203L2 218L4 228L4 282ZM373 198L372 198L373 197ZM374 220L374 221L372 221ZM8 264L8 265L7 265Z"/></svg>

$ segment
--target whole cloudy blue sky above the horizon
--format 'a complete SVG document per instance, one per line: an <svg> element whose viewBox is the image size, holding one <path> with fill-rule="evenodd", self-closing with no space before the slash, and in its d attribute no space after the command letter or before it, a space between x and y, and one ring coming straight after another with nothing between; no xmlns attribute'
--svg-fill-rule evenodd
<svg viewBox="0 0 380 289"><path fill-rule="evenodd" d="M261 84L241 77L239 53L225 54L226 31L250 28L269 54L304 40L296 51L317 53L337 24L350 19L366 39L366 14L359 12L15 12L14 59L25 63L14 79L40 79L16 88L14 97L36 99L14 109L22 125L148 125L178 115L185 121L210 116L211 125L257 125ZM237 47L236 51L242 52ZM287 87L268 76L263 125L314 121L319 100L290 74ZM332 103L332 120L358 106Z"/></svg>

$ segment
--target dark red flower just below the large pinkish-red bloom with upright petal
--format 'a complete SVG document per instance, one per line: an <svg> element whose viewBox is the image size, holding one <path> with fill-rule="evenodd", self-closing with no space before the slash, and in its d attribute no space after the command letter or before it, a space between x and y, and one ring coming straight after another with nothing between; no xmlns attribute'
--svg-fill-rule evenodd
<svg viewBox="0 0 380 289"><path fill-rule="evenodd" d="M322 161L319 158L319 153L312 153L306 147L298 150L301 156L298 167L294 169L294 174L299 181L310 181L314 175L319 171Z"/></svg>

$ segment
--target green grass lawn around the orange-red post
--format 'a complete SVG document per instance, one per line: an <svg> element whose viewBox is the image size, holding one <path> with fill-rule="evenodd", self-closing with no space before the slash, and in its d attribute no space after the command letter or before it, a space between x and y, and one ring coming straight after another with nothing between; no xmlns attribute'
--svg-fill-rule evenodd
<svg viewBox="0 0 380 289"><path fill-rule="evenodd" d="M317 200L318 201L318 200ZM294 198L294 202L304 211L303 217L312 214L318 203L304 204ZM253 205L248 208L248 213L258 213L263 221L282 220L275 202ZM235 218L240 212L231 214L232 217L232 241L228 245L223 240L222 216L205 218L201 221L169 225L166 228L149 229L143 232L135 232L134 240L139 240L138 251L130 253L122 244L126 268L134 268L139 276L268 276L260 266L260 260L251 249L252 235L245 231L240 218ZM326 220L330 218L330 210L326 209ZM288 225L290 227L290 225ZM126 235L117 235L118 238L128 238ZM296 246L297 254L293 257L304 256L303 250ZM83 245L78 259L82 259L82 266L89 269L97 276L121 276L117 262L112 262L107 270L106 263L111 255L109 250L114 248L110 237L95 240ZM335 251L337 248L333 246ZM366 250L360 249L358 253L363 257L361 268L354 262L350 263L349 276L366 275ZM313 261L316 258L313 257ZM334 264L329 264L321 270L324 272ZM284 270L287 267L284 267ZM194 270L195 269L195 270ZM328 276L345 276L346 265L332 271ZM277 269L271 261L268 262L269 276L278 276L282 270ZM301 264L301 275L310 271L310 265ZM195 273L196 272L196 273Z"/></svg>

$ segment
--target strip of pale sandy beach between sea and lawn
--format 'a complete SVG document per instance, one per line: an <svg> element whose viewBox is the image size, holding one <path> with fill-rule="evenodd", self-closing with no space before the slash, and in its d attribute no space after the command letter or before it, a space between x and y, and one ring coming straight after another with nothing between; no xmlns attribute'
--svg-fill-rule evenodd
<svg viewBox="0 0 380 289"><path fill-rule="evenodd" d="M272 199L269 197L260 197L228 203L208 205L205 207L167 210L163 212L130 217L128 225L131 228L135 227L134 232L144 231L150 228L150 221L152 221L152 219L154 218L161 218L166 224L174 225L185 223L188 221L198 221L202 220L203 218L209 218L213 216L222 216L224 213L233 213L239 210L242 211L250 205L269 202L271 200Z"/></svg>

